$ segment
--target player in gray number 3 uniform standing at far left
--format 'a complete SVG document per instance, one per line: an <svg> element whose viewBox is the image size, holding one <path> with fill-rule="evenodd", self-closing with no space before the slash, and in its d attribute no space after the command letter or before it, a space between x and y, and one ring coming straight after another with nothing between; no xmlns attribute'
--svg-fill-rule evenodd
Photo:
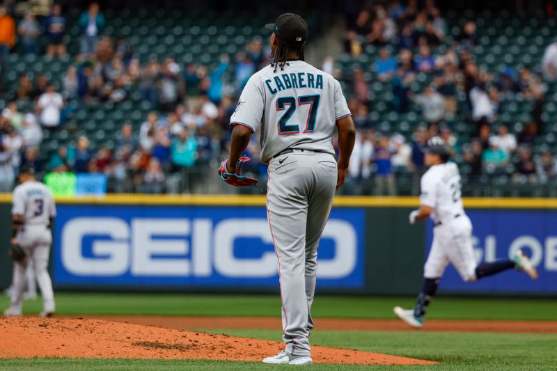
<svg viewBox="0 0 557 371"><path fill-rule="evenodd" d="M54 314L54 292L48 274L48 260L52 232L50 226L56 216L56 206L51 191L35 180L35 171L22 166L19 170L19 184L13 191L13 239L26 253L21 262L14 262L13 293L11 306L4 315L22 315L22 299L25 289L25 269L31 260L43 300L42 317Z"/></svg>

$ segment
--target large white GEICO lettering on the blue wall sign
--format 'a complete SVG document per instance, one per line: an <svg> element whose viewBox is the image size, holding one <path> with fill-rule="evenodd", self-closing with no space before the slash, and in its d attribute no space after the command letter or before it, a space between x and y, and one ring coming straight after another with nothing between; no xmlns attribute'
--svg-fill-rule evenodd
<svg viewBox="0 0 557 371"><path fill-rule="evenodd" d="M260 218L215 223L212 219L74 217L63 224L60 238L63 268L75 276L202 278L216 273L230 278L268 278L277 274L272 249L256 258L235 255L239 239L272 246L267 220ZM85 238L91 240L88 253L84 253ZM320 260L318 277L338 279L352 274L358 258L354 226L329 219L322 239L334 242L334 256Z"/></svg>

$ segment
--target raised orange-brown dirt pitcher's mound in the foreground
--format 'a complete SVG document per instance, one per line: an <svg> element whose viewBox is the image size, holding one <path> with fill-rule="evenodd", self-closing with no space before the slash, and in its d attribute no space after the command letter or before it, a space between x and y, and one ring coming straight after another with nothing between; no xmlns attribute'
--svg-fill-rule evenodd
<svg viewBox="0 0 557 371"><path fill-rule="evenodd" d="M0 358L165 358L261 361L280 342L163 329L100 319L0 319ZM431 365L435 362L356 350L312 347L315 363Z"/></svg>

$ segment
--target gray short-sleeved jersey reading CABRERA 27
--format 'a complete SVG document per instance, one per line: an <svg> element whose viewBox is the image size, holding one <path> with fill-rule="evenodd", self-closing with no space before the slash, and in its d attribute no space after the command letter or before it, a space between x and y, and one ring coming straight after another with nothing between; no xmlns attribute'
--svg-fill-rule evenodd
<svg viewBox="0 0 557 371"><path fill-rule="evenodd" d="M289 148L334 155L336 120L350 116L340 83L304 61L267 66L249 79L230 125L259 130L261 161Z"/></svg>

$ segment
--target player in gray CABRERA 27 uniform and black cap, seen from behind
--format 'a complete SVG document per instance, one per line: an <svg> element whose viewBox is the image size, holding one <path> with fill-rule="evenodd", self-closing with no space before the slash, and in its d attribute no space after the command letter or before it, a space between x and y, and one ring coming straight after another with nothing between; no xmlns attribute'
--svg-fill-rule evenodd
<svg viewBox="0 0 557 371"><path fill-rule="evenodd" d="M340 84L304 62L307 24L291 13L267 25L271 65L247 82L230 118L234 125L228 173L252 133L269 164L267 214L281 283L284 352L265 363L311 364L308 336L317 274L317 246L345 180L354 147L354 122ZM338 130L339 157L331 136Z"/></svg>

